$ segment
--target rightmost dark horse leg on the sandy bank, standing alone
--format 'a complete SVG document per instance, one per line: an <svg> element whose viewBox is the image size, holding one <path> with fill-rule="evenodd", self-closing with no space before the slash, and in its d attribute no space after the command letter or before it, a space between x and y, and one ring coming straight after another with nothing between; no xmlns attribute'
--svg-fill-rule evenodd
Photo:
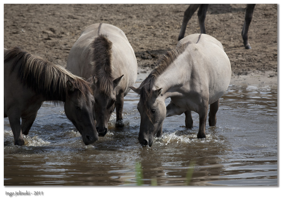
<svg viewBox="0 0 282 202"><path fill-rule="evenodd" d="M245 22L242 29L242 37L243 43L246 49L251 49L250 43L248 41L248 30L253 18L253 10L256 4L247 4L246 14L245 14Z"/></svg>

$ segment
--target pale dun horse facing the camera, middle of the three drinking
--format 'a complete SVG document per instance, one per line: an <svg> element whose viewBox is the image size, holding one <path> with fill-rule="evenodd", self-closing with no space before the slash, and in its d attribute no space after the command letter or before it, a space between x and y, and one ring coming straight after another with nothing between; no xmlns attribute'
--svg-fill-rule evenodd
<svg viewBox="0 0 282 202"><path fill-rule="evenodd" d="M105 23L84 29L70 50L67 69L89 78L95 76L96 127L107 133L108 121L116 108L116 126L123 127L123 97L137 78L137 60L123 31Z"/></svg>

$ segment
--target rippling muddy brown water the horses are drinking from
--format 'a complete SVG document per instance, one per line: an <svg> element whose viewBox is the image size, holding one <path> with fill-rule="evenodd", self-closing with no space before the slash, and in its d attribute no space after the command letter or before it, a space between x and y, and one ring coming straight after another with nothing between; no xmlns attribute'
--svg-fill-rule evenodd
<svg viewBox="0 0 282 202"><path fill-rule="evenodd" d="M13 145L5 118L4 185L277 185L277 89L231 85L206 139L196 138L198 115L187 129L182 114L165 119L163 137L151 148L137 140L137 103L130 91L125 127L114 127L113 114L108 134L88 146L63 106L44 103L21 147Z"/></svg>

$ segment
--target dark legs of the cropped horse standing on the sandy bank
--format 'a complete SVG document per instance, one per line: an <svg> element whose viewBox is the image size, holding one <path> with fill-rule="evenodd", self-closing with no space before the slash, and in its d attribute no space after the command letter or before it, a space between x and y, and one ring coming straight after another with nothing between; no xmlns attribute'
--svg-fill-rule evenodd
<svg viewBox="0 0 282 202"><path fill-rule="evenodd" d="M184 13L183 22L182 22L180 33L178 36L178 41L184 38L187 23L198 8L199 8L198 18L199 18L201 33L203 34L206 33L205 18L206 18L206 11L208 9L208 5L209 4L191 4L187 8L187 10ZM251 49L250 43L248 42L248 30L249 30L249 26L253 18L253 10L254 10L255 5L256 4L247 4L245 22L244 22L244 26L243 26L242 33L241 33L243 37L243 43L246 49Z"/></svg>

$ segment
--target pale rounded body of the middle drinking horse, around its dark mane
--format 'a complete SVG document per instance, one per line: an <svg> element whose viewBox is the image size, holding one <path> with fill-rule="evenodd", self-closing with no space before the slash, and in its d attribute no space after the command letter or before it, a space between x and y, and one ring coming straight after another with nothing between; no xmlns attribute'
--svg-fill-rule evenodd
<svg viewBox="0 0 282 202"><path fill-rule="evenodd" d="M93 62L94 56L91 55L91 43L99 35L106 36L112 43L112 74L116 78L124 75L120 85L121 88L128 89L128 86L133 85L137 78L137 60L125 33L110 24L92 24L82 31L70 50L67 69L85 79L88 79L90 75L95 75L96 65Z"/></svg>

